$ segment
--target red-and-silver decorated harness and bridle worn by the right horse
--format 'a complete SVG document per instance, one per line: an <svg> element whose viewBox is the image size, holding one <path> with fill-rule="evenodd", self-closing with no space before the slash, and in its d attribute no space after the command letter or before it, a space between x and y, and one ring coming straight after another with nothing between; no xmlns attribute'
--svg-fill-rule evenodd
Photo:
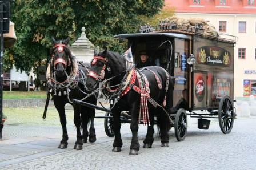
<svg viewBox="0 0 256 170"><path fill-rule="evenodd" d="M93 61L91 62L92 65L94 65L97 60L101 60L104 65L100 71L99 74L97 74L94 71L89 71L88 76L91 76L95 80L97 80L99 83L104 79L105 76L105 69L107 68L108 71L110 71L110 68L107 67L107 58L103 58L101 56L94 56ZM163 68L162 68L163 69ZM161 90L162 89L162 83L160 79L158 78L157 74L155 74L154 71L150 70L150 68L142 68L142 70L149 70L152 72L155 76L155 79L157 80L158 88ZM163 69L164 70L164 69ZM165 91L167 94L168 87L169 87L169 74L167 73L166 70L164 70L166 73L166 87ZM112 78L110 78L112 79ZM106 98L110 99L110 103L113 103L113 99L117 101L116 99L125 96L127 92L129 92L131 89L133 89L135 92L141 95L140 99L140 107L139 107L139 119L138 121L141 121L141 118L143 120L143 124L149 124L150 125L150 119L149 119L149 110L147 106L147 101L153 105L153 107L165 107L166 106L166 94L165 98L162 102L162 105L158 104L153 98L150 97L150 88L149 88L149 82L146 78L146 76L137 68L131 67L129 71L126 72L126 75L124 76L123 80L121 81L121 84L118 85L117 88L112 90L109 87L109 80L103 81L104 83L102 84L103 90L102 93L103 95L106 96ZM138 80L138 85L135 85L136 79ZM101 87L101 86L100 86ZM163 108L163 110L165 110ZM167 113L167 111L165 111ZM142 115L142 116L141 116Z"/></svg>

